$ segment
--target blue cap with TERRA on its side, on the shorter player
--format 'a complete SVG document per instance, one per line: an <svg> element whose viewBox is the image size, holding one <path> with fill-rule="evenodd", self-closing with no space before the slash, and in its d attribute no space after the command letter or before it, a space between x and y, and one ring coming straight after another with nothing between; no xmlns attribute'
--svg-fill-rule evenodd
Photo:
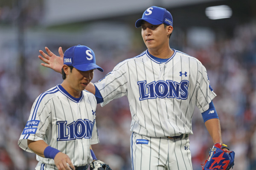
<svg viewBox="0 0 256 170"><path fill-rule="evenodd" d="M68 48L64 53L64 64L73 65L74 68L80 71L89 71L96 68L99 71L103 71L102 68L96 65L93 50L84 45Z"/></svg>

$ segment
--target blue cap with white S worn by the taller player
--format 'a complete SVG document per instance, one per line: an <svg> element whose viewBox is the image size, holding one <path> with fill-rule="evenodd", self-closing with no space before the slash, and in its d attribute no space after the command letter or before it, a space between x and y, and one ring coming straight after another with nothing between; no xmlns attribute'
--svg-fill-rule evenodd
<svg viewBox="0 0 256 170"><path fill-rule="evenodd" d="M172 26L172 15L165 8L151 6L142 15L142 18L135 23L136 28L141 27L141 22L146 21L153 25L166 24Z"/></svg>

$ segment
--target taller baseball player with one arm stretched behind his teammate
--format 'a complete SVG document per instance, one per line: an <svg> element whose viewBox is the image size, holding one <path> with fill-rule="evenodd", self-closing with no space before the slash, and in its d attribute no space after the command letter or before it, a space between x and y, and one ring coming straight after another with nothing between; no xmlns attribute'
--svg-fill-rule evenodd
<svg viewBox="0 0 256 170"><path fill-rule="evenodd" d="M135 23L147 50L126 59L87 90L102 106L127 96L131 110L133 170L192 170L189 135L197 106L213 143L222 143L218 114L206 68L198 59L169 47L172 15L151 6ZM41 65L60 72L61 48L56 57L48 48ZM58 65L58 66L56 66Z"/></svg>

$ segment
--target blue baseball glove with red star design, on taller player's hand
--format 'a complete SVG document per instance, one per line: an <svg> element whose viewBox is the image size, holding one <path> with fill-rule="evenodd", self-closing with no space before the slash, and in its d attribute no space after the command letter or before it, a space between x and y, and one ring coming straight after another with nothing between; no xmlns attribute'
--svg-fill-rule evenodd
<svg viewBox="0 0 256 170"><path fill-rule="evenodd" d="M228 150L226 144L216 143L209 151L208 159L202 165L202 170L230 170L234 166L235 152Z"/></svg>

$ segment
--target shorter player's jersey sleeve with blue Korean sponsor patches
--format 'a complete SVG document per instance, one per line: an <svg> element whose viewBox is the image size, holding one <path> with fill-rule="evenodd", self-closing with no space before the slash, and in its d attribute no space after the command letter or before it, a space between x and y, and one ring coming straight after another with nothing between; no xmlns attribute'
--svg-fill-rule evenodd
<svg viewBox="0 0 256 170"><path fill-rule="evenodd" d="M28 122L23 129L18 145L27 152L33 152L29 149L27 140L44 140L46 130L51 122L49 102L43 96L39 96L31 109Z"/></svg>

